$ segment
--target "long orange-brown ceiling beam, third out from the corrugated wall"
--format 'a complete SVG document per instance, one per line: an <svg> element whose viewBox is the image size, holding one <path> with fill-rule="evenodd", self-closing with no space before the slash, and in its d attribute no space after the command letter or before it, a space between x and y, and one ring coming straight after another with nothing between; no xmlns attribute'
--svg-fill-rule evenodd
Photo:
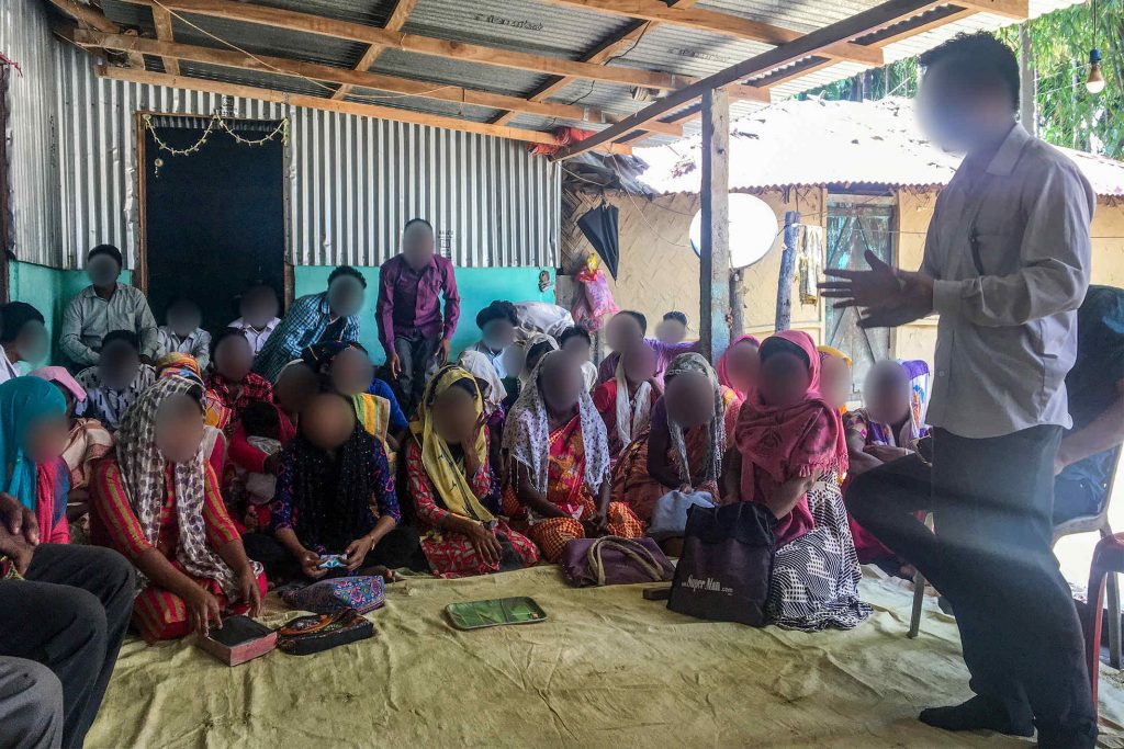
<svg viewBox="0 0 1124 749"><path fill-rule="evenodd" d="M155 4L153 0L129 1L137 2L139 4ZM230 0L161 0L161 3L172 10L180 10L201 16L225 18L247 24L257 24L289 31L317 34L335 39L364 42L371 44L372 46L393 47L396 49L414 52L433 57L460 60L480 63L483 65L497 65L499 67L514 67L516 70L533 71L540 74L572 75L595 81L608 81L624 85L638 85L652 89L678 89L680 86L688 85L695 80L685 80L681 76L668 73L655 73L652 71L634 70L631 67L606 67L604 65L589 64L562 57L546 57L524 52L486 47L477 44L435 39L427 36L418 36L416 34L404 34L397 28L390 28L389 26L387 28L378 28L365 24L355 24L352 21L344 21L296 10L259 6L248 2L232 2ZM399 18L401 18L402 24L406 22L405 13ZM365 72L368 68L370 68L370 65L362 70ZM359 68L356 67L356 70Z"/></svg>

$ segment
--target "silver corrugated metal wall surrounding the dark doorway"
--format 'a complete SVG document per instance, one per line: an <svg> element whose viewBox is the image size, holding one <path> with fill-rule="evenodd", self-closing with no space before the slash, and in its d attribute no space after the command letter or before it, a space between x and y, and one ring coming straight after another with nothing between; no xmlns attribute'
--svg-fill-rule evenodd
<svg viewBox="0 0 1124 749"><path fill-rule="evenodd" d="M0 1L9 4L25 3ZM16 18L13 26L24 34L27 21ZM53 58L36 75L34 89L45 100L37 104L53 108L58 120L57 164L38 170L44 188L55 190L56 213L40 230L54 238L40 241L31 232L35 239L21 238L17 256L80 267L89 247L111 243L132 267L139 231L136 112L210 115L224 98L97 79L85 54L51 39L37 46ZM43 85L52 67L56 84ZM441 250L457 265L558 263L561 172L522 144L252 99L227 98L226 107L242 118L290 118L285 177L294 264L379 265L398 252L401 225L415 216L434 225ZM39 121L30 129L40 138L49 133ZM22 154L26 141L12 146ZM16 203L27 205L29 193L19 186L15 193Z"/></svg>

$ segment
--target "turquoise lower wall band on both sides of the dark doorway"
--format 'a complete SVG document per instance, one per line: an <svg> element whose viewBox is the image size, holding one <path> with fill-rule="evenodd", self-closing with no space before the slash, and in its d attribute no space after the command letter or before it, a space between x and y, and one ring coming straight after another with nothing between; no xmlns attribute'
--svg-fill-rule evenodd
<svg viewBox="0 0 1124 749"><path fill-rule="evenodd" d="M315 294L327 287L332 266L299 265L293 268L293 280L298 296ZM362 266L359 268L366 277L366 300L362 318L361 342L371 351L377 363L386 358L379 335L374 326L374 302L379 287L379 268ZM488 305L493 299L506 299L513 302L542 301L554 302L553 284L545 292L538 291L540 268L456 268L456 285L461 291L461 321L453 337L453 351L459 353L474 344L480 331L477 329L477 312ZM129 283L132 274L125 271L121 281ZM552 274L553 281L553 274ZM58 329L62 325L63 311L71 298L81 291L89 282L82 271L61 271L31 263L9 264L9 291L12 301L34 304L47 321L51 340L57 345ZM55 351L54 360L60 360Z"/></svg>

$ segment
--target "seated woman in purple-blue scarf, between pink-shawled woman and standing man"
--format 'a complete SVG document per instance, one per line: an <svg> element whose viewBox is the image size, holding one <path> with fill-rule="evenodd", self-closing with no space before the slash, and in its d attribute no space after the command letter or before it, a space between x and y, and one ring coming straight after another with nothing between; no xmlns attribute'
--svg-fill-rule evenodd
<svg viewBox="0 0 1124 749"><path fill-rule="evenodd" d="M843 414L849 478L897 460L913 453L914 442L928 433L928 365L921 359L883 359L870 368L863 384L864 408ZM843 487L846 492L846 485ZM847 515L854 548L862 564L878 566L912 577L914 569L903 566L890 549Z"/></svg>

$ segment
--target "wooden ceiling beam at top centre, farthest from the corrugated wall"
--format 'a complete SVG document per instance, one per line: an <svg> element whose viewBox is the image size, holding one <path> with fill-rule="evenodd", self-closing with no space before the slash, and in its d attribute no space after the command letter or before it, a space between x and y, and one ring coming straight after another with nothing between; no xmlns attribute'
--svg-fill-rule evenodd
<svg viewBox="0 0 1124 749"><path fill-rule="evenodd" d="M780 46L795 42L804 36L800 31L789 28L764 24L740 16L731 16L714 10L701 8L679 8L670 7L660 0L547 0L562 6L592 10L596 12L625 16L627 18L643 18L650 21L661 21L673 24L686 28L710 31L723 36L733 36L752 42L763 42ZM979 0L987 2L988 0ZM995 0L996 2L1012 0ZM881 49L863 47L847 42L837 42L824 45L824 54L839 60L862 63L871 67L879 67L885 63Z"/></svg>

